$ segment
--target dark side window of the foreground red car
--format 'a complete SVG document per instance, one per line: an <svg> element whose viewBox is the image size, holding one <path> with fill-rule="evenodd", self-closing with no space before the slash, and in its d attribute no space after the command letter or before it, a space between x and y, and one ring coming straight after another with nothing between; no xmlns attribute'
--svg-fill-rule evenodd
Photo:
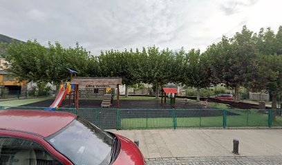
<svg viewBox="0 0 282 165"><path fill-rule="evenodd" d="M37 142L15 137L0 137L1 165L60 165L43 146Z"/></svg>

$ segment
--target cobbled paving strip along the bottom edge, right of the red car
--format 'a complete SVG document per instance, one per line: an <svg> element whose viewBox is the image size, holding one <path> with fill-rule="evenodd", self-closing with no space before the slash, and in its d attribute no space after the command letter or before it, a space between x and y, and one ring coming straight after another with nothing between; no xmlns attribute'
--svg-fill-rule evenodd
<svg viewBox="0 0 282 165"><path fill-rule="evenodd" d="M147 164L156 165L184 165L184 164L205 164L205 165L279 165L282 164L282 156L255 156L255 157L159 157L146 159Z"/></svg>

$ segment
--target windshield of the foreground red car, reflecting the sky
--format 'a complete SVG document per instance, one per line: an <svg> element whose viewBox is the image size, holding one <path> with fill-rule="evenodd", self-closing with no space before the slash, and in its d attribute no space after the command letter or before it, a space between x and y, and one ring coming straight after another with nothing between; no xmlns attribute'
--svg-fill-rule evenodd
<svg viewBox="0 0 282 165"><path fill-rule="evenodd" d="M73 164L110 164L113 137L82 118L46 140Z"/></svg>

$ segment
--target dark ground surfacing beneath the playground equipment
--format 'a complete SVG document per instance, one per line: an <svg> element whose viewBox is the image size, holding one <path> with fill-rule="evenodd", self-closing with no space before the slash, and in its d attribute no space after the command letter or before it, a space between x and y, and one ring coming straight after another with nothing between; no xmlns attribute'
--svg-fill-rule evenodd
<svg viewBox="0 0 282 165"><path fill-rule="evenodd" d="M24 107L49 107L50 104L53 103L54 100L44 100L41 102L35 102L31 104L25 104ZM79 100L79 108L87 108L87 109L116 109L118 102L115 100L113 102L113 106L101 107L102 100ZM62 108L68 108L68 100L64 100L61 105ZM73 102L71 103L71 107L74 107ZM167 102L166 106L162 106L160 104L160 100L120 100L120 109L122 110L121 116L124 115L125 118L170 118L171 110L173 107ZM129 109L129 110L127 110ZM144 111L144 109L148 109L149 111ZM206 116L222 116L223 111L198 111L198 109L205 110L204 106L201 104L196 104L192 102L185 102L185 100L176 100L176 107L178 109L176 111L176 115L178 117L206 117ZM189 111L185 111L185 109L189 109ZM192 110L193 109L193 110ZM213 107L207 107L207 109L213 109ZM134 110L134 111L132 111ZM182 110L182 111L180 111ZM160 113L162 111L162 113ZM104 113L104 112L103 112ZM238 115L236 113L227 112L227 115Z"/></svg>

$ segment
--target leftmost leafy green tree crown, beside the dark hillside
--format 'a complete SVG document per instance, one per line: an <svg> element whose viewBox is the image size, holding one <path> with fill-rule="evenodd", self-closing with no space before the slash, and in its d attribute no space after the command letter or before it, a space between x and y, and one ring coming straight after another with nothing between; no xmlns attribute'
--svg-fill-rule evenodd
<svg viewBox="0 0 282 165"><path fill-rule="evenodd" d="M28 41L26 43L10 43L6 45L8 64L7 71L19 78L19 80L44 81L48 79L46 68L48 61L45 60L44 54L47 49L41 46L37 41ZM44 62L45 61L45 62Z"/></svg>

